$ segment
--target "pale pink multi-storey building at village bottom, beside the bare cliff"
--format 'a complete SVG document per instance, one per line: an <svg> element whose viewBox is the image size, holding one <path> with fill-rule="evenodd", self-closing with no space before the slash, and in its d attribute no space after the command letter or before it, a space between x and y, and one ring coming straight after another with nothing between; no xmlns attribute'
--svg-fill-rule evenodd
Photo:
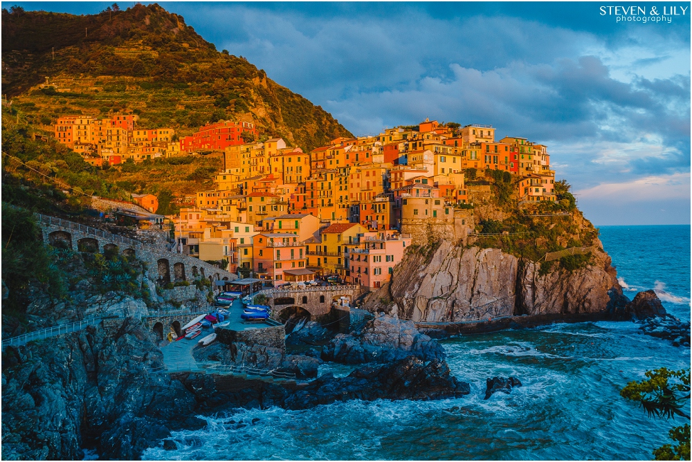
<svg viewBox="0 0 692 462"><path fill-rule="evenodd" d="M394 266L411 245L410 234L394 230L366 232L358 247L349 249L349 277L353 284L370 289L381 287L392 277Z"/></svg>

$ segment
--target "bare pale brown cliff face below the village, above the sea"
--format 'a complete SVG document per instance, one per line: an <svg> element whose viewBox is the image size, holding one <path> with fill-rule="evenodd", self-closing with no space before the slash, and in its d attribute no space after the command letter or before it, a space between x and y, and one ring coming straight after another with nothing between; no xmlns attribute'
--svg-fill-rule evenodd
<svg viewBox="0 0 692 462"><path fill-rule="evenodd" d="M432 254L410 252L392 281L369 297L365 308L416 321L482 320L510 315L597 313L621 294L610 257L594 253L585 268L555 268L540 275L540 264L496 248L463 248L442 241Z"/></svg>

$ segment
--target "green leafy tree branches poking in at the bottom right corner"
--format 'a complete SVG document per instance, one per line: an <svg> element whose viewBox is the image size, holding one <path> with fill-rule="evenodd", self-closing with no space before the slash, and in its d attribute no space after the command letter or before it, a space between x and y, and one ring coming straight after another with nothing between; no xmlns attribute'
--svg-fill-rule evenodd
<svg viewBox="0 0 692 462"><path fill-rule="evenodd" d="M620 391L620 396L637 401L648 416L673 418L680 416L689 420L683 412L689 407L690 369L669 371L665 367L655 371L646 371L647 380L632 381ZM670 383L668 381L671 381ZM685 403L687 401L687 403ZM690 425L673 427L668 436L677 443L675 446L664 444L653 450L657 461L690 460Z"/></svg>

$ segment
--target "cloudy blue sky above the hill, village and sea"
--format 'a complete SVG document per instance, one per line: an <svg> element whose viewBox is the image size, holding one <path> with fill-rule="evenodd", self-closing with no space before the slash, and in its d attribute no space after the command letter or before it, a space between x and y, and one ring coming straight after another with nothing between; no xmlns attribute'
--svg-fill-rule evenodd
<svg viewBox="0 0 692 462"><path fill-rule="evenodd" d="M159 3L355 135L490 124L547 145L596 225L690 223L689 2Z"/></svg>

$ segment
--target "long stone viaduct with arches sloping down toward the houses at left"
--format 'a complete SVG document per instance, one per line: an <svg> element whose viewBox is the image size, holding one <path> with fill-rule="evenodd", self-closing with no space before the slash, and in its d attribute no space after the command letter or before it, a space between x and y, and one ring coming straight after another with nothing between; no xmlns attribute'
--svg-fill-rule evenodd
<svg viewBox="0 0 692 462"><path fill-rule="evenodd" d="M159 285L176 281L194 281L203 277L212 282L237 279L237 275L232 272L221 270L188 255L158 250L141 241L81 223L40 214L37 214L37 217L45 243L80 252L120 252L122 255L136 257L147 264L149 274L156 278Z"/></svg>

